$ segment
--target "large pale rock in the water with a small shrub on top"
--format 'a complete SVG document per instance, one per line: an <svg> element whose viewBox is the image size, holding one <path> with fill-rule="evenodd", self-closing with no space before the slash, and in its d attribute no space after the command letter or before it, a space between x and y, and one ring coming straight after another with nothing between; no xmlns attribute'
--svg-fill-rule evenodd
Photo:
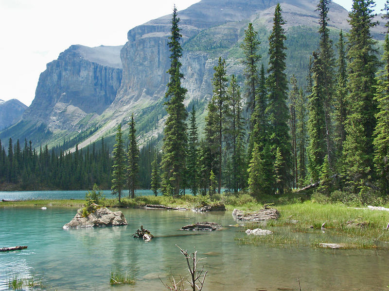
<svg viewBox="0 0 389 291"><path fill-rule="evenodd" d="M64 225L63 228L68 229L94 226L123 226L127 224L127 220L125 219L122 211L113 212L106 207L102 207L90 213L87 217L83 217L82 212L82 208L77 210L77 214L74 216L71 222Z"/></svg>

